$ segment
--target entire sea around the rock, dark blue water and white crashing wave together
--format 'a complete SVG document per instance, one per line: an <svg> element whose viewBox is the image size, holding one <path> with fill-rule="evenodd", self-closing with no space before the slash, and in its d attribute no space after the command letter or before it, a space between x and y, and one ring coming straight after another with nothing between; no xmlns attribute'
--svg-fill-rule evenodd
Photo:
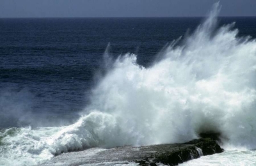
<svg viewBox="0 0 256 166"><path fill-rule="evenodd" d="M0 165L202 132L225 151L180 165L256 165L256 17L219 10L0 19Z"/></svg>

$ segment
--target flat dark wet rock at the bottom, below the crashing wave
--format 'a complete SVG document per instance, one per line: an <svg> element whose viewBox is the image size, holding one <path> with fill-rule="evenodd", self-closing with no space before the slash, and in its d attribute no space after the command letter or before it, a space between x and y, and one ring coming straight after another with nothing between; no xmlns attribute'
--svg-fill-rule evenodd
<svg viewBox="0 0 256 166"><path fill-rule="evenodd" d="M63 153L43 165L178 165L179 163L199 158L202 155L221 153L216 133L204 133L201 139L184 144L160 144L150 146L122 146L112 149L98 147Z"/></svg>

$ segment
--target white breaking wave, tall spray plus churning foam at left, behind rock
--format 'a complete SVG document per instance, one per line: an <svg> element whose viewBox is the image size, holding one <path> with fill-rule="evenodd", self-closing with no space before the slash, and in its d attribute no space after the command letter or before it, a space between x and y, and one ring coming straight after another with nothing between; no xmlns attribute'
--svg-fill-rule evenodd
<svg viewBox="0 0 256 166"><path fill-rule="evenodd" d="M95 146L186 142L201 132L255 149L256 41L237 37L233 24L216 29L218 10L148 68L134 54L118 57L77 123L1 132L0 165L35 165Z"/></svg>

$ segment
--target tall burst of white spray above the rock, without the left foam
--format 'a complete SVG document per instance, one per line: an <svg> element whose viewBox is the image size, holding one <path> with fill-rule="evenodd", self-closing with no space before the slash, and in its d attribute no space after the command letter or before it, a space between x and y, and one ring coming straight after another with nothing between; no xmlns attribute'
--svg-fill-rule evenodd
<svg viewBox="0 0 256 166"><path fill-rule="evenodd" d="M186 142L220 132L225 144L256 147L255 40L237 37L234 24L216 28L219 11L215 4L195 33L149 68L134 54L116 59L92 98L93 108L116 121L106 129L120 131L115 139L100 135L107 145Z"/></svg>

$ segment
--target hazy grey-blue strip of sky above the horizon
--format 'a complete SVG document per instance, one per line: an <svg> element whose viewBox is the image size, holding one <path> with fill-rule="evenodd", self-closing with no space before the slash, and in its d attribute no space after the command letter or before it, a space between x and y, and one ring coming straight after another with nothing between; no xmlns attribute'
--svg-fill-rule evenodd
<svg viewBox="0 0 256 166"><path fill-rule="evenodd" d="M0 0L0 17L193 17L217 0ZM256 16L256 0L220 0L221 16Z"/></svg>

